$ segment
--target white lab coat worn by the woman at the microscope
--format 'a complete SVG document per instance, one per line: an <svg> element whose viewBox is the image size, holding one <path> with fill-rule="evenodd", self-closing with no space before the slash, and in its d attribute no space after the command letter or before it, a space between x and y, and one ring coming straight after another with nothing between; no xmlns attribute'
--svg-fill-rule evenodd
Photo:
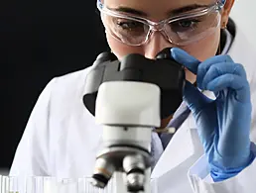
<svg viewBox="0 0 256 193"><path fill-rule="evenodd" d="M247 71L254 109L251 140L256 143L256 51L248 43L237 29L229 54ZM102 128L82 103L88 70L54 78L47 85L17 148L10 175L91 175ZM255 193L256 160L231 179L211 182L191 115L160 157L152 178L161 193Z"/></svg>

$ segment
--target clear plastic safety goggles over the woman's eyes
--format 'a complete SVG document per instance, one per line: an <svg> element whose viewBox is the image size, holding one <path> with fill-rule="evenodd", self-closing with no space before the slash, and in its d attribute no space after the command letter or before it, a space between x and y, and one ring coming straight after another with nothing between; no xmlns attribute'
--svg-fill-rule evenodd
<svg viewBox="0 0 256 193"><path fill-rule="evenodd" d="M154 32L161 32L173 45L188 46L215 32L220 24L223 0L209 6L173 16L160 22L108 9L100 0L97 8L106 31L116 40L129 45L147 43Z"/></svg>

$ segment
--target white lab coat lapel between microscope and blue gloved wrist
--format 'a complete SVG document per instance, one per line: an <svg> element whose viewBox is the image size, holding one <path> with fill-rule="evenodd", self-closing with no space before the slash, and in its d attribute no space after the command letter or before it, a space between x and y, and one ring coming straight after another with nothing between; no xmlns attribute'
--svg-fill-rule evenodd
<svg viewBox="0 0 256 193"><path fill-rule="evenodd" d="M158 192L192 192L187 173L203 153L197 131L192 129L193 125L190 115L167 145L152 171L151 177L157 183Z"/></svg>

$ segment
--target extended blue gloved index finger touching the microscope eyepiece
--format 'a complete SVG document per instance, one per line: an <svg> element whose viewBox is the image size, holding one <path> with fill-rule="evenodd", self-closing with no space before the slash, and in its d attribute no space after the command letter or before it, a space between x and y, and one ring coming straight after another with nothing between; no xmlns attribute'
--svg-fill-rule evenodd
<svg viewBox="0 0 256 193"><path fill-rule="evenodd" d="M181 48L171 48L174 59L196 74L200 61Z"/></svg>

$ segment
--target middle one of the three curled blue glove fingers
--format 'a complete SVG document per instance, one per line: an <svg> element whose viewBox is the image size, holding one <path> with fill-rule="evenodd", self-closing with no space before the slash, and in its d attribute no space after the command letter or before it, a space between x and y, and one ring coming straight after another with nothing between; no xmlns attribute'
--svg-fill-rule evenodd
<svg viewBox="0 0 256 193"><path fill-rule="evenodd" d="M213 79L224 74L235 74L246 79L246 72L241 64L226 62L216 63L211 65L205 74L200 74L203 79L198 84L198 87L202 90L206 89L206 85Z"/></svg>

